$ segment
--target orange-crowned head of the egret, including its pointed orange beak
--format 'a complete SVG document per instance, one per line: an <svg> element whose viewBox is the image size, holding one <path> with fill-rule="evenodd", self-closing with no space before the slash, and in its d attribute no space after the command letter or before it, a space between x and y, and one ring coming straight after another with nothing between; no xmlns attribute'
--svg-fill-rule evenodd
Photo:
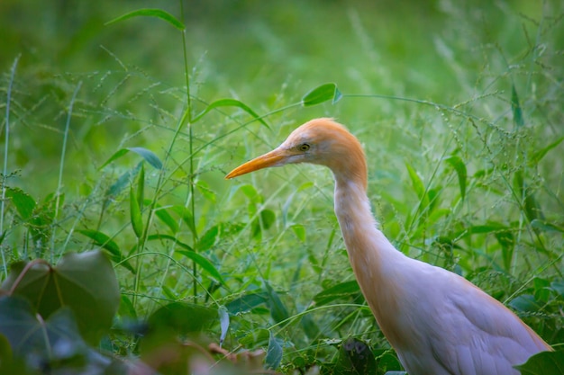
<svg viewBox="0 0 564 375"><path fill-rule="evenodd" d="M332 119L315 119L294 130L277 148L233 169L225 178L270 166L312 163L331 168L336 178L359 179L366 187L366 159L359 140Z"/></svg>

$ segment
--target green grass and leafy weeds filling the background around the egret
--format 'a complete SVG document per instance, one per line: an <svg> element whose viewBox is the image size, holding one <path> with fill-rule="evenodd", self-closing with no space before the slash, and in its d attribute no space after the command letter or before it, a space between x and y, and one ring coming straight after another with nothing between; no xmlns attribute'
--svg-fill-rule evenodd
<svg viewBox="0 0 564 375"><path fill-rule="evenodd" d="M142 8L186 30L154 13L106 24ZM300 165L223 180L325 116L366 148L374 210L401 251L459 272L559 348L563 17L558 0L4 0L3 288L21 281L12 263L101 248L119 308L88 347L112 365L141 358L174 373L151 353L187 340L212 355L225 335L249 371L264 349L277 371L339 372L349 338L370 345L374 371L401 371L350 270L331 174ZM341 100L307 105L325 83ZM159 316L174 308L177 320ZM145 321L173 333L147 335ZM16 353L0 332L0 353ZM42 358L64 370L91 364L89 350Z"/></svg>

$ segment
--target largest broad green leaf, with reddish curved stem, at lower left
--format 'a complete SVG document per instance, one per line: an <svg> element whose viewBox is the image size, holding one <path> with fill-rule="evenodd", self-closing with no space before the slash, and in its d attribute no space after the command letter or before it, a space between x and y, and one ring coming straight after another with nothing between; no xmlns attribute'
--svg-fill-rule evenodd
<svg viewBox="0 0 564 375"><path fill-rule="evenodd" d="M43 318L67 306L82 336L97 344L112 326L120 302L114 268L105 254L65 254L56 267L38 262L21 276L22 266L19 263L11 269L2 289L29 299Z"/></svg>

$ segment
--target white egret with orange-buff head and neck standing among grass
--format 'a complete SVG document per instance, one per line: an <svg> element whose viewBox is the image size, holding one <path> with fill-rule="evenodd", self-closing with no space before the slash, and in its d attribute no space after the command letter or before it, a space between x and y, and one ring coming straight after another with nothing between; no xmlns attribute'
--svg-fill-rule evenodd
<svg viewBox="0 0 564 375"><path fill-rule="evenodd" d="M514 365L552 350L484 290L392 245L370 208L364 150L340 123L330 118L305 122L279 147L225 178L298 163L331 169L334 211L352 270L380 330L410 375L518 375Z"/></svg>

